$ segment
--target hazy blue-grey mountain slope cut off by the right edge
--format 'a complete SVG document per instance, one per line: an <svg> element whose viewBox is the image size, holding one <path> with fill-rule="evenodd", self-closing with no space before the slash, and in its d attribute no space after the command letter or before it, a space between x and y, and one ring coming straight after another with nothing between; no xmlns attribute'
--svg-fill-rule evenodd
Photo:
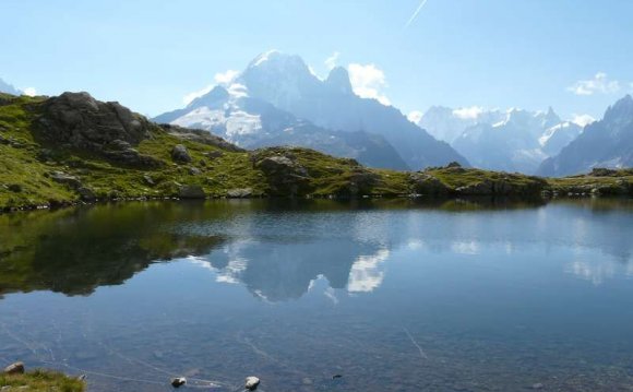
<svg viewBox="0 0 633 392"><path fill-rule="evenodd" d="M562 151L539 167L544 176L568 176L593 168L633 166L633 98L626 95L609 107L602 120L587 127Z"/></svg>

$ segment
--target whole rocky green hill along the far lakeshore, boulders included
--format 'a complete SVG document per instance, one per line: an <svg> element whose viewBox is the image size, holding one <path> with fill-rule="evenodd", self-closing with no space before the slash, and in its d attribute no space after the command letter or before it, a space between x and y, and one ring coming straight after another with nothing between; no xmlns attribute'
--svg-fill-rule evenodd
<svg viewBox="0 0 633 392"><path fill-rule="evenodd" d="M457 165L370 169L307 149L244 151L206 132L153 123L86 93L0 94L0 211L140 198L628 193L631 177L622 171L546 180Z"/></svg>

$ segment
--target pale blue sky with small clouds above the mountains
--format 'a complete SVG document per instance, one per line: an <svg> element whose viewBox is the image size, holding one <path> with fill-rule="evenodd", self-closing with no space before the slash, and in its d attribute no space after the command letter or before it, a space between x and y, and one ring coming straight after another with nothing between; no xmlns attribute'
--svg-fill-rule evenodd
<svg viewBox="0 0 633 392"><path fill-rule="evenodd" d="M600 117L633 91L633 1L428 0L404 28L420 3L2 0L0 78L154 116L275 48L319 74L329 58L355 64L359 91L405 114L552 106Z"/></svg>

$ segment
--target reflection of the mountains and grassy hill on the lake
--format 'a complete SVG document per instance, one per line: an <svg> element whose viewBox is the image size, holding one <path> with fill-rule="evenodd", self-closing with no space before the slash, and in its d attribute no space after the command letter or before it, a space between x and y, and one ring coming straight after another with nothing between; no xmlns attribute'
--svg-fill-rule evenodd
<svg viewBox="0 0 633 392"><path fill-rule="evenodd" d="M188 258L216 272L218 282L279 301L301 297L319 277L335 289L371 292L384 278L390 251L403 246L473 254L486 243L506 243L512 253L515 243L544 241L598 248L625 265L633 247L621 229L622 211L633 211L628 200L561 201L556 206L563 213L549 214L540 203L490 200L284 203L151 202L0 216L0 295L87 295L152 263ZM411 218L418 210L426 211L422 222ZM387 218L393 214L402 218ZM595 284L613 274L612 265L577 260L566 271Z"/></svg>

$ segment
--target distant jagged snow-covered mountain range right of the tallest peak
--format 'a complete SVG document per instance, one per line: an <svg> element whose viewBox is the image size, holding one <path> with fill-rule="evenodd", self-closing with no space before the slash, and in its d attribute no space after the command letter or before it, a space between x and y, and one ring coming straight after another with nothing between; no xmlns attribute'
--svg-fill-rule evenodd
<svg viewBox="0 0 633 392"><path fill-rule="evenodd" d="M474 166L533 174L542 161L558 154L582 127L547 111L431 107L418 121L437 138L449 141Z"/></svg>

